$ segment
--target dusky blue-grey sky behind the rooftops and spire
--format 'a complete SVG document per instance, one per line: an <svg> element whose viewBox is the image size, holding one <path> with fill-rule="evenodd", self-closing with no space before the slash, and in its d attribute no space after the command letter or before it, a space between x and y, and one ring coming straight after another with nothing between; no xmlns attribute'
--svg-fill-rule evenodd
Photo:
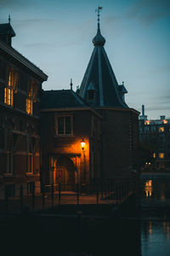
<svg viewBox="0 0 170 256"><path fill-rule="evenodd" d="M12 46L48 75L43 90L73 90L82 83L100 29L129 108L148 119L170 118L169 0L0 0L0 23L16 37Z"/></svg>

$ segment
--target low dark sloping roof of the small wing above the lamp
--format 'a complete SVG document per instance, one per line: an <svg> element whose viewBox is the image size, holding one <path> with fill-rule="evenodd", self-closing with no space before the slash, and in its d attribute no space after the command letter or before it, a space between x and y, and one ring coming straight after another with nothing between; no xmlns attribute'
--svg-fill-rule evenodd
<svg viewBox="0 0 170 256"><path fill-rule="evenodd" d="M74 90L42 90L41 108L87 108Z"/></svg>

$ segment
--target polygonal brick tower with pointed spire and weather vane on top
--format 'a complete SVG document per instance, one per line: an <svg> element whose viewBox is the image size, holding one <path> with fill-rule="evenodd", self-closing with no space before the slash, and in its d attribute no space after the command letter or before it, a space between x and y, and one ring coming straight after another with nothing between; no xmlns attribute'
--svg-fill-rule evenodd
<svg viewBox="0 0 170 256"><path fill-rule="evenodd" d="M102 170L107 178L127 175L137 166L139 112L127 106L124 99L127 90L124 83L117 83L105 52L100 9L94 50L78 94L102 115Z"/></svg>

